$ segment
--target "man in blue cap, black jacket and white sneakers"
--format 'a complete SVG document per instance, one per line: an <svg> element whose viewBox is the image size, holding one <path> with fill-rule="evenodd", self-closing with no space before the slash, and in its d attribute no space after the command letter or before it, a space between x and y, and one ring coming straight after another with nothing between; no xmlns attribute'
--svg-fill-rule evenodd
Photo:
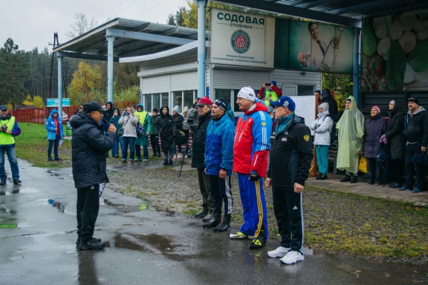
<svg viewBox="0 0 428 285"><path fill-rule="evenodd" d="M305 259L303 243L302 192L312 162L310 129L294 114L296 105L287 96L276 102L275 118L278 123L272 135L266 187L272 186L274 213L280 246L267 252L269 257L282 257L283 264L294 264Z"/></svg>

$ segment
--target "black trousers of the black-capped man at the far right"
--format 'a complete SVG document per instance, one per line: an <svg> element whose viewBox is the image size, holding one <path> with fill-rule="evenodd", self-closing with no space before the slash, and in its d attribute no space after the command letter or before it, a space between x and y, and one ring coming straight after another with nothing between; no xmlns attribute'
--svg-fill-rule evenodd
<svg viewBox="0 0 428 285"><path fill-rule="evenodd" d="M423 166L415 166L411 162L411 157L413 154L420 154L420 147L422 146L422 142L420 143L407 143L406 145L406 162L405 162L405 171L406 171L406 183L405 186L412 189L413 186L413 172L416 170L416 180L414 183L414 187L422 190L424 187L424 175L425 175L425 167Z"/></svg>

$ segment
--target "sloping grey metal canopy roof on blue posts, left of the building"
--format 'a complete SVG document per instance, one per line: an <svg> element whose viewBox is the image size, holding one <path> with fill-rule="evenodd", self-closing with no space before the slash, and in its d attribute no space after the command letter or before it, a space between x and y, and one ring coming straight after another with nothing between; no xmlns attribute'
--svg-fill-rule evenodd
<svg viewBox="0 0 428 285"><path fill-rule="evenodd" d="M90 30L79 37L69 40L60 46L53 49L56 51L66 51L72 53L84 53L90 55L107 55L107 29L125 32L139 32L150 35L160 35L171 37L171 39L187 39L195 41L197 39L197 29L181 28L177 26L169 26L166 24L150 23L148 21L138 21L132 19L116 18L108 21L105 24ZM208 32L206 32L206 38ZM176 48L179 44L166 44L161 42L153 42L150 40L128 39L126 37L116 37L114 40L114 56L115 57L132 57L134 55L149 55L159 53L163 50Z"/></svg>

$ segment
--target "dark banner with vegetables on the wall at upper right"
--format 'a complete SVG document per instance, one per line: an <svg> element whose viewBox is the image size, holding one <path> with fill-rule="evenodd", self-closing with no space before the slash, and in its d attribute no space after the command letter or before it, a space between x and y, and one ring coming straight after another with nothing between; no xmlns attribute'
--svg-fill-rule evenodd
<svg viewBox="0 0 428 285"><path fill-rule="evenodd" d="M364 20L361 89L428 90L428 9Z"/></svg>

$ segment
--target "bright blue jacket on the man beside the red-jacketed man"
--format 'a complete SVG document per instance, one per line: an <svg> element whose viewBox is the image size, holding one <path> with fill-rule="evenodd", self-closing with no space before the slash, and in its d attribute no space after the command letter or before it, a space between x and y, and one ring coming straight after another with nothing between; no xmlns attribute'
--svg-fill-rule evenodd
<svg viewBox="0 0 428 285"><path fill-rule="evenodd" d="M226 113L211 120L206 131L206 174L218 175L221 169L228 176L232 174L234 140L235 124Z"/></svg>

